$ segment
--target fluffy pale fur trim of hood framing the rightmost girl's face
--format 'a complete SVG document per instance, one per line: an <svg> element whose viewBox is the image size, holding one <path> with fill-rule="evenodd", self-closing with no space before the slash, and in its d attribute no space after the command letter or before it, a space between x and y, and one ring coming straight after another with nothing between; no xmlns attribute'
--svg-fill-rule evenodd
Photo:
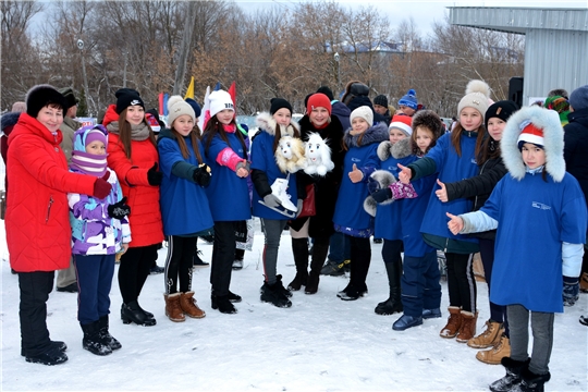
<svg viewBox="0 0 588 392"><path fill-rule="evenodd" d="M565 175L564 134L560 117L553 110L531 106L525 107L511 115L500 142L504 166L514 179L520 181L525 177L526 167L518 150L517 139L523 131L520 125L528 121L543 131L546 171L555 182L561 182Z"/></svg>

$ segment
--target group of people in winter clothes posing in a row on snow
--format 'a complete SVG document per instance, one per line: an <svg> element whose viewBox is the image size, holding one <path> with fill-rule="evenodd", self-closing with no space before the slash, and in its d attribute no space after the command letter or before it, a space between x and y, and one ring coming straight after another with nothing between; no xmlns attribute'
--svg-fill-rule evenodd
<svg viewBox="0 0 588 392"><path fill-rule="evenodd" d="M476 357L507 371L492 391L542 390L550 378L553 315L578 297L588 220L588 170L578 162L588 143L588 86L565 97L565 149L560 113L493 102L490 91L471 81L457 107L458 123L445 132L412 89L394 110L385 96L372 103L360 82L350 82L341 101L322 86L307 96L299 122L292 120L291 102L271 99L248 140L224 90L207 97L201 130L198 105L171 97L168 125L156 137L139 93L122 88L101 124L74 130L68 163L60 131L66 97L49 85L33 87L7 155L7 242L19 273L23 355L46 365L68 359L65 343L49 339L46 302L53 272L71 260L84 348L97 355L121 348L109 332L117 258L122 321L156 324L138 299L164 238L166 316L175 322L206 316L194 298L192 267L198 236L211 234L211 308L236 313L241 296L230 290L235 233L253 216L265 235L260 301L291 307L293 291L317 293L321 270L332 264L329 250L350 260L340 264L348 265L350 281L336 295L363 297L375 236L383 240L390 286L375 310L402 314L392 329L404 331L442 316L442 250L450 306L440 335L490 347ZM283 137L315 134L334 163L324 175L275 159ZM294 216L275 184L287 184ZM314 207L306 216L305 203ZM296 274L284 285L277 268L286 225ZM477 252L490 292L490 319L478 335Z"/></svg>

